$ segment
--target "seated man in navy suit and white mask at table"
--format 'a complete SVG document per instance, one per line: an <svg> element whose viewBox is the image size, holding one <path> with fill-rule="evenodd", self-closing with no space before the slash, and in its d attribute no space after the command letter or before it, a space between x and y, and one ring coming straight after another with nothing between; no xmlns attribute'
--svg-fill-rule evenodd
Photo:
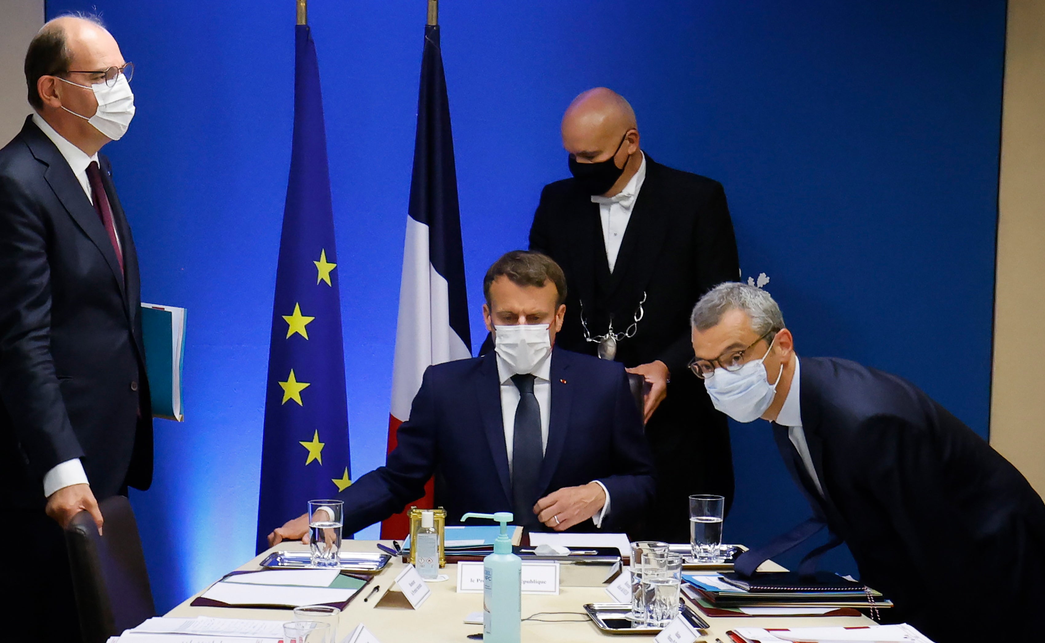
<svg viewBox="0 0 1045 643"><path fill-rule="evenodd" d="M624 367L553 349L566 281L551 258L509 252L483 291L495 350L428 367L388 463L339 495L345 533L401 511L437 473L451 523L466 511L511 511L535 530L628 530L654 482ZM301 515L269 542L307 532Z"/></svg>

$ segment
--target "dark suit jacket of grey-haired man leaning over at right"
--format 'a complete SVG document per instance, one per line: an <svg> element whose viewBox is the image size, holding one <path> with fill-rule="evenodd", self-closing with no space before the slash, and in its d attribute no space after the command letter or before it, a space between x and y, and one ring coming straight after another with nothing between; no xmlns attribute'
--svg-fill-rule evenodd
<svg viewBox="0 0 1045 643"><path fill-rule="evenodd" d="M800 383L826 498L808 484L806 495L849 545L860 579L896 602L892 618L937 643L970 630L1032 640L1045 603L1045 505L1026 479L901 377L803 358ZM803 484L790 454L785 461Z"/></svg>

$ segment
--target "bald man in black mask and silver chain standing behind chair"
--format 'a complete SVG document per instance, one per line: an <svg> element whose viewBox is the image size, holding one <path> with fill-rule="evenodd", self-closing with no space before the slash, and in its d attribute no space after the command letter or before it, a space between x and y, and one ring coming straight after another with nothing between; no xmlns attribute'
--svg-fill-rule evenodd
<svg viewBox="0 0 1045 643"><path fill-rule="evenodd" d="M646 435L658 476L645 535L688 543L689 496L733 500L726 418L687 369L689 314L740 269L725 191L640 148L631 106L597 88L562 118L572 179L544 187L530 249L566 273L560 344L622 362L649 383Z"/></svg>

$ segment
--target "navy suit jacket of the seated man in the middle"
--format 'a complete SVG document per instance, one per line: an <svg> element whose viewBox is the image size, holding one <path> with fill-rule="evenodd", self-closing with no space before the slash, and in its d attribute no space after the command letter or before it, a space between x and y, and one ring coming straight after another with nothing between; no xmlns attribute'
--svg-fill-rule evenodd
<svg viewBox="0 0 1045 643"><path fill-rule="evenodd" d="M624 367L555 348L551 382L542 496L598 480L611 499L602 528L626 531L641 520L654 481ZM466 511L512 510L495 353L428 367L396 439L388 464L339 495L346 533L401 511L421 498L435 474L441 482L436 500L449 524L459 524ZM590 520L574 527L594 529Z"/></svg>

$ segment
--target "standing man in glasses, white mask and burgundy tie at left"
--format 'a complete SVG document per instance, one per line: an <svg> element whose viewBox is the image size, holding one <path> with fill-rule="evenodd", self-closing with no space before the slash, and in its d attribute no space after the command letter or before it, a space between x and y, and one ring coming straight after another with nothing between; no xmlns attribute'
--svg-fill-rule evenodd
<svg viewBox="0 0 1045 643"><path fill-rule="evenodd" d="M36 113L0 150L0 507L20 615L61 641L79 639L63 527L86 510L100 532L98 501L153 475L138 260L98 154L134 115L131 71L95 20L48 22Z"/></svg>

